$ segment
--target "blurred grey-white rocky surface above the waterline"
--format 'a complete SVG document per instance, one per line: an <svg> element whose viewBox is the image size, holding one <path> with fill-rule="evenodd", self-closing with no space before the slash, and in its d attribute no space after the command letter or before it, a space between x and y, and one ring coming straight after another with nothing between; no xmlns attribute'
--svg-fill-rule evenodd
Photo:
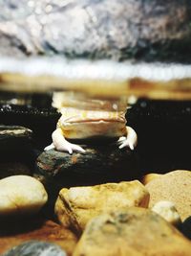
<svg viewBox="0 0 191 256"><path fill-rule="evenodd" d="M0 4L0 53L190 61L189 0Z"/></svg>

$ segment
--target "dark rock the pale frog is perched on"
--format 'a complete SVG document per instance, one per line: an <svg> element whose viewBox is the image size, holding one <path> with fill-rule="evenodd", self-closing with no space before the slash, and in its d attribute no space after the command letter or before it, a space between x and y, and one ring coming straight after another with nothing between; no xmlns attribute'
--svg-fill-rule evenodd
<svg viewBox="0 0 191 256"><path fill-rule="evenodd" d="M132 180L140 175L136 151L119 150L116 143L82 147L85 153L52 150L38 156L34 176L44 183L49 198L56 198L63 187Z"/></svg>

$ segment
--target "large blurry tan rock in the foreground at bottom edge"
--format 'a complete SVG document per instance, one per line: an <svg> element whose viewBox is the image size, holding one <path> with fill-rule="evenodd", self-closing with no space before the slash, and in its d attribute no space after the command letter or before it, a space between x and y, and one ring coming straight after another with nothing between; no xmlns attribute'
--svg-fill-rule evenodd
<svg viewBox="0 0 191 256"><path fill-rule="evenodd" d="M130 207L90 221L73 256L190 256L191 243L154 212Z"/></svg>

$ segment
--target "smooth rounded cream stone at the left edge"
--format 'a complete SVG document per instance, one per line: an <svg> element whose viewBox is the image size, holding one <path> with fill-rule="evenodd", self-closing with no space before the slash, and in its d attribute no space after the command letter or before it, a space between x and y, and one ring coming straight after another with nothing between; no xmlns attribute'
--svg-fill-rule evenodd
<svg viewBox="0 0 191 256"><path fill-rule="evenodd" d="M44 186L28 175L12 175L0 180L0 215L33 214L47 202Z"/></svg>

